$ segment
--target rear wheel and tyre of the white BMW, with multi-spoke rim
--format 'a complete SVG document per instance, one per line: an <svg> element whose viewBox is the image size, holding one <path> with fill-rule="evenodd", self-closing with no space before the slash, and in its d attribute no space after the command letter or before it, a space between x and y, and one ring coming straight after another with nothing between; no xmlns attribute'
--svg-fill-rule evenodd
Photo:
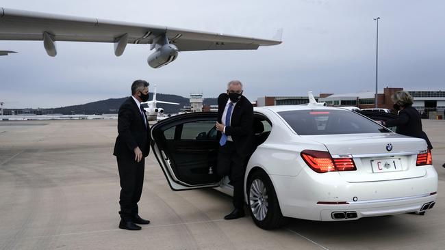
<svg viewBox="0 0 445 250"><path fill-rule="evenodd" d="M247 186L249 212L255 224L271 230L280 227L284 221L279 207L277 194L267 173L255 171Z"/></svg>

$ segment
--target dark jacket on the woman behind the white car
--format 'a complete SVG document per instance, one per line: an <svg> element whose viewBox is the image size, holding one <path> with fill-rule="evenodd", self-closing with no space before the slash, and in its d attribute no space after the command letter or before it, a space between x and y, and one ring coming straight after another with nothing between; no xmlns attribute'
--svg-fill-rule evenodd
<svg viewBox="0 0 445 250"><path fill-rule="evenodd" d="M398 118L386 121L385 125L387 127L396 126L396 133L398 134L422 138L427 141L429 149L433 148L427 134L422 130L420 113L417 111L417 109L414 109L411 106L402 109L400 112L398 112Z"/></svg>

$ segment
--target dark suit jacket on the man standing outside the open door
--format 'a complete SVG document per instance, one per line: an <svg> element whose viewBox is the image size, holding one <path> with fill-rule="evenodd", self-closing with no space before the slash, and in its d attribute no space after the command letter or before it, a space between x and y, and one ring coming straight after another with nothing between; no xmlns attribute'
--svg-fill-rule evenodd
<svg viewBox="0 0 445 250"><path fill-rule="evenodd" d="M139 147L144 157L150 152L149 124L145 128L140 107L130 96L120 105L118 113L118 137L113 154L122 158L135 158L134 149ZM145 115L145 113L144 113ZM145 116L147 120L147 116Z"/></svg>

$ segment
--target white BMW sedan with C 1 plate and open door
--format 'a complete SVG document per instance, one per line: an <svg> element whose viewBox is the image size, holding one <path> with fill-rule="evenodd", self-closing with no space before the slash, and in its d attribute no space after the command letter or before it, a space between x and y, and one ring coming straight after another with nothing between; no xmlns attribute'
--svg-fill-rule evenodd
<svg viewBox="0 0 445 250"><path fill-rule="evenodd" d="M437 173L423 139L393 133L333 107L255 107L244 178L251 217L263 229L284 217L344 221L433 208ZM217 188L216 113L188 113L151 129L152 148L174 191Z"/></svg>

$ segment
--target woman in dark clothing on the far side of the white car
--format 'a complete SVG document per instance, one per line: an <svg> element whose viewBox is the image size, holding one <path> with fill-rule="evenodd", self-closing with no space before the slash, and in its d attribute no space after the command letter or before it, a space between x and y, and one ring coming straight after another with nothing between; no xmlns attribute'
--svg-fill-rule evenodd
<svg viewBox="0 0 445 250"><path fill-rule="evenodd" d="M384 126L396 126L396 133L407 135L410 137L418 137L427 141L428 149L433 149L427 134L422 130L422 120L417 109L411 107L413 105L413 97L405 91L399 91L391 96L394 102L394 109L398 112L398 118L382 122Z"/></svg>

